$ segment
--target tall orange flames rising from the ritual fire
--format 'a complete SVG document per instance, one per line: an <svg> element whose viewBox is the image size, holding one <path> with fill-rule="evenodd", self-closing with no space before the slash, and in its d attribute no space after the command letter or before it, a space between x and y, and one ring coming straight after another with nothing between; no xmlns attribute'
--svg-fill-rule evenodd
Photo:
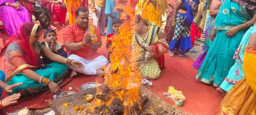
<svg viewBox="0 0 256 115"><path fill-rule="evenodd" d="M141 86L141 75L136 72L136 74L132 77L131 75L131 41L132 36L134 34L135 28L133 28L136 18L134 18L135 14L135 5L138 3L138 0L116 0L116 8L122 9L123 14L120 19L126 19L126 15L129 18L119 26L119 31L117 35L114 35L112 38L112 55L110 56L111 64L107 65L106 72L107 75L104 76L105 81L108 84L108 87L114 91L114 94L121 99L125 106L124 115L132 114L135 115L135 110L131 110L134 103L138 103L140 106L139 100L139 91ZM111 49L112 49L111 48ZM117 73L112 73L116 69L119 69ZM126 89L127 84L129 83L137 83L137 86L132 89ZM115 90L118 89L118 90ZM121 90L120 90L121 89ZM101 91L97 88L97 94ZM107 105L112 103L113 99L110 99L107 102ZM99 99L96 99L98 106L101 104ZM141 107L139 107L141 109ZM130 111L132 111L130 113Z"/></svg>

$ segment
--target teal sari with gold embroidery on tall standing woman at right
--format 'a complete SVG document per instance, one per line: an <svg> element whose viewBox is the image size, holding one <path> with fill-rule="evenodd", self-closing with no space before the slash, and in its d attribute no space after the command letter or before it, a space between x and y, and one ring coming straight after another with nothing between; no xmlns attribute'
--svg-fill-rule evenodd
<svg viewBox="0 0 256 115"><path fill-rule="evenodd" d="M219 87L230 68L235 64L233 56L242 36L248 30L239 30L234 36L225 35L227 30L252 19L252 12L232 0L225 0L215 18L216 37L202 63L196 79Z"/></svg>

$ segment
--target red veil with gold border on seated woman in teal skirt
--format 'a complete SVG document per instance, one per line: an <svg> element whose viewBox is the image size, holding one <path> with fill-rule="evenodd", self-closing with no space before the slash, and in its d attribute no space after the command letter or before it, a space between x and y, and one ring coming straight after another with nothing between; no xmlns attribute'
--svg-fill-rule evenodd
<svg viewBox="0 0 256 115"><path fill-rule="evenodd" d="M25 23L21 26L20 34L10 38L4 60L4 71L6 73L5 82L8 82L14 75L23 70L34 70L40 66L39 58L41 55L38 49L40 49L41 45L36 44L38 46L36 47L37 49L35 49L35 47L33 48L33 42L38 28L38 24ZM30 33L30 38L28 39L24 33ZM43 43L43 41L39 40L38 43ZM13 57L23 58L26 60L26 64L16 67L11 61Z"/></svg>

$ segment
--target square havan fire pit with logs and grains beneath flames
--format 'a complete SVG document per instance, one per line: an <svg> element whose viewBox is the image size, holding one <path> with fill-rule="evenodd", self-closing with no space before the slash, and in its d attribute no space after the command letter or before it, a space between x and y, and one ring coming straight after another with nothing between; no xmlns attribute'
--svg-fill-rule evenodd
<svg viewBox="0 0 256 115"><path fill-rule="evenodd" d="M98 87L102 89L102 94L96 95L96 88L84 91L85 94L92 94L97 99L100 99L103 103L100 106L92 105L91 103L84 102L83 94L76 93L69 97L63 97L54 101L49 102L49 105L54 110L56 115L123 115L125 111L125 106L122 106L122 101L119 98L110 98L106 93L110 92L106 89L106 85ZM111 104L107 105L104 102L109 102ZM68 108L64 108L62 105L64 103L69 103ZM85 103L85 104L84 104ZM107 105L107 106L106 106ZM140 105L135 103L130 110L136 111L136 115L175 115L178 111L172 108L169 104L159 98L157 95L149 91L146 87L142 85L140 89ZM84 110L74 111L75 106L87 106ZM92 109L94 108L94 109ZM94 110L94 111L93 111ZM88 112L90 111L90 112ZM105 112L104 112L105 111Z"/></svg>

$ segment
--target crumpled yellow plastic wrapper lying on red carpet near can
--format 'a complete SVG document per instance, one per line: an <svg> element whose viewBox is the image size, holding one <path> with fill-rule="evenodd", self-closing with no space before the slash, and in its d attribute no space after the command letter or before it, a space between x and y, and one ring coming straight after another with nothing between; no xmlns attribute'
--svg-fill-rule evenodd
<svg viewBox="0 0 256 115"><path fill-rule="evenodd" d="M177 91L174 87L169 86L168 92L164 92L164 97L168 99L172 99L173 101L177 101L177 99L185 100L185 96L182 94L181 91Z"/></svg>

